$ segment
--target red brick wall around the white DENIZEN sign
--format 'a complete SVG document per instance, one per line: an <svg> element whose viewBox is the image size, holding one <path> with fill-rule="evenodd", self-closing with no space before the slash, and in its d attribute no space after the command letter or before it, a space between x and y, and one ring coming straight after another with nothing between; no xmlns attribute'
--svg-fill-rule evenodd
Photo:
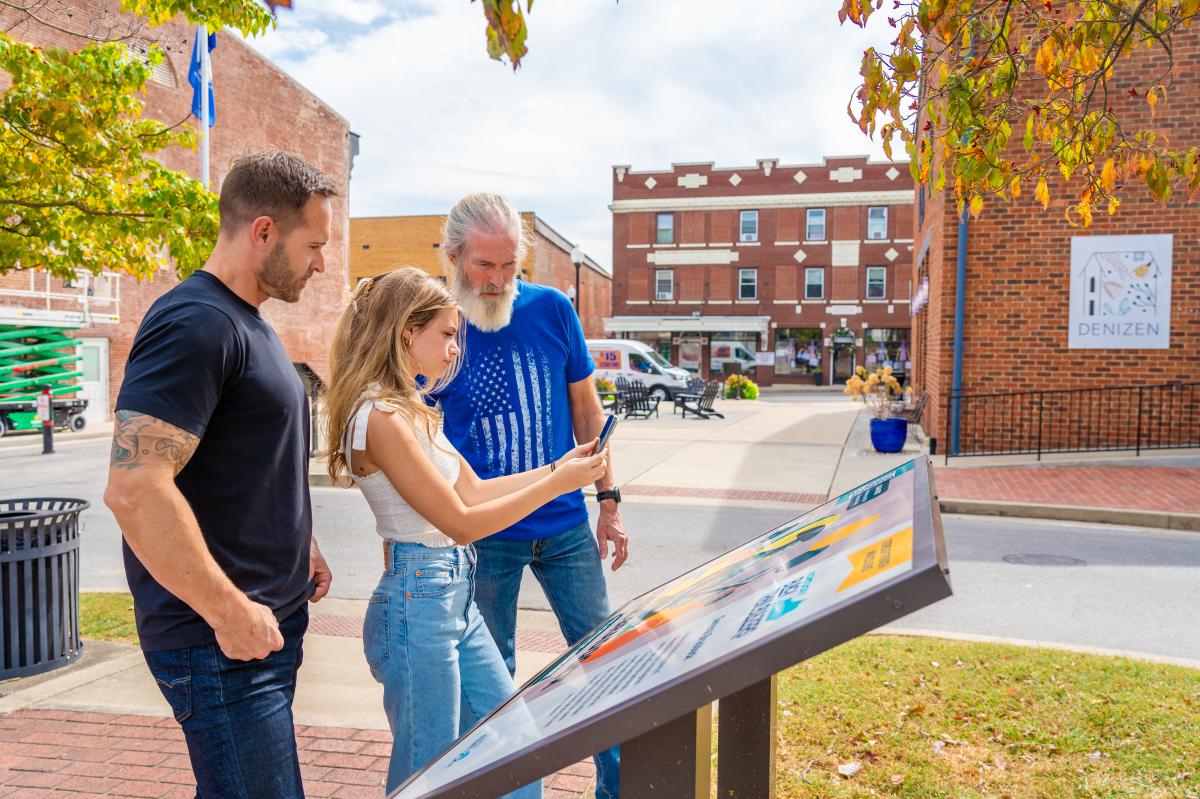
<svg viewBox="0 0 1200 799"><path fill-rule="evenodd" d="M1120 113L1128 124L1164 131L1172 149L1200 144L1200 32L1175 40L1175 89L1159 103L1156 119L1145 98L1122 96ZM1112 85L1157 83L1166 67L1157 53L1139 53L1117 67ZM967 232L962 388L967 394L1104 388L1189 380L1189 364L1200 352L1200 204L1176 194L1157 203L1140 182L1121 190L1115 216L1097 211L1091 228L1073 228L1063 218L1070 202L1057 172L1049 181L1051 203L1043 210L1030 185L1015 203L990 199ZM926 200L925 222L914 221L914 262L929 240L930 302L914 324L916 384L930 394L924 426L948 441L947 401L953 385L954 293L958 217L943 196ZM1174 234L1170 349L1068 349L1070 240L1075 235ZM913 280L916 286L917 281ZM1079 409L1076 419L1093 437L1104 420L1121 410ZM976 422L978 425L980 422ZM979 438L983 428L966 421L961 429ZM1044 431L1049 435L1049 431ZM1164 433L1165 434L1165 433ZM1098 440L1098 438L1096 439ZM1045 441L1044 441L1045 443Z"/></svg>

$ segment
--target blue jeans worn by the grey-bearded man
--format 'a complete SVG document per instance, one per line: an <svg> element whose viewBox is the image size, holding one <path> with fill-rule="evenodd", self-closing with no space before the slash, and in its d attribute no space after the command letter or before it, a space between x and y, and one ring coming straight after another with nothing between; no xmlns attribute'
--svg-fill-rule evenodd
<svg viewBox="0 0 1200 799"><path fill-rule="evenodd" d="M600 551L587 522L548 539L475 542L479 553L475 602L500 648L509 674L516 674L517 594L526 566L546 593L569 644L608 618L608 587ZM617 799L620 787L620 751L613 746L593 758L596 799Z"/></svg>

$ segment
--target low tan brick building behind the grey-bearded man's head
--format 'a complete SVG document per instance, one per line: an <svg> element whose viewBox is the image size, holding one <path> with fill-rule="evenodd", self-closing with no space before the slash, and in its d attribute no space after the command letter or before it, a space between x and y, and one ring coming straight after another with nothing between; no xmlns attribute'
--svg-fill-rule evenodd
<svg viewBox="0 0 1200 799"><path fill-rule="evenodd" d="M521 264L521 280L553 286L568 296L576 289L571 260L574 242L568 241L536 214L523 211L521 218L533 233L534 245ZM420 266L445 277L442 258L444 214L426 216L361 216L350 220L350 276L371 277L396 266ZM583 257L578 270L580 317L588 337L604 335L601 319L612 308L612 275L592 257Z"/></svg>

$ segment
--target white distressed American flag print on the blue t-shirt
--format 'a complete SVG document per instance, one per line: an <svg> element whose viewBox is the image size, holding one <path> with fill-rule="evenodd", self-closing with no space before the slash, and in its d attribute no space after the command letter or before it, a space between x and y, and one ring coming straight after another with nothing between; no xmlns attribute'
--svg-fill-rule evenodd
<svg viewBox="0 0 1200 799"><path fill-rule="evenodd" d="M472 443L492 475L545 465L554 456L550 359L526 344L498 347L468 368Z"/></svg>

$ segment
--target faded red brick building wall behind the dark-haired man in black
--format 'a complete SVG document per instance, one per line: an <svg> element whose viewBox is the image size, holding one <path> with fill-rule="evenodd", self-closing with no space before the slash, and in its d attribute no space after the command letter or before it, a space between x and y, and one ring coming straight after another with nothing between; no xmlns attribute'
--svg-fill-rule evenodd
<svg viewBox="0 0 1200 799"><path fill-rule="evenodd" d="M56 22L73 30L86 25L88 20L96 19L101 13L118 14L120 10L118 2L102 0L76 2L72 6L72 17L59 18ZM52 5L44 12L53 19L55 8L58 7ZM0 19L13 19L12 12L0 14ZM82 40L36 24L20 24L11 32L40 46L82 46ZM174 89L152 82L146 84L146 115L172 125L182 119L197 125L194 119L187 116L192 102L187 66L194 28L179 18L162 28L146 29L144 34L145 37L162 40L170 47L167 59L176 83ZM310 281L300 302L287 305L270 301L263 306L264 317L280 334L292 359L307 362L319 374L328 377L329 337L348 288L348 124L232 34L218 34L218 44L212 52L212 74L217 120L212 127L210 148L214 191L220 190L221 179L235 157L277 148L295 152L323 169L342 194L332 203L332 236L325 246L325 274ZM193 175L199 172L197 151L167 150L157 157L174 169ZM142 317L151 302L175 283L170 272L162 272L152 281L140 283L122 278L121 322L78 331L79 337L109 340L109 391L113 401L125 376L125 361Z"/></svg>

